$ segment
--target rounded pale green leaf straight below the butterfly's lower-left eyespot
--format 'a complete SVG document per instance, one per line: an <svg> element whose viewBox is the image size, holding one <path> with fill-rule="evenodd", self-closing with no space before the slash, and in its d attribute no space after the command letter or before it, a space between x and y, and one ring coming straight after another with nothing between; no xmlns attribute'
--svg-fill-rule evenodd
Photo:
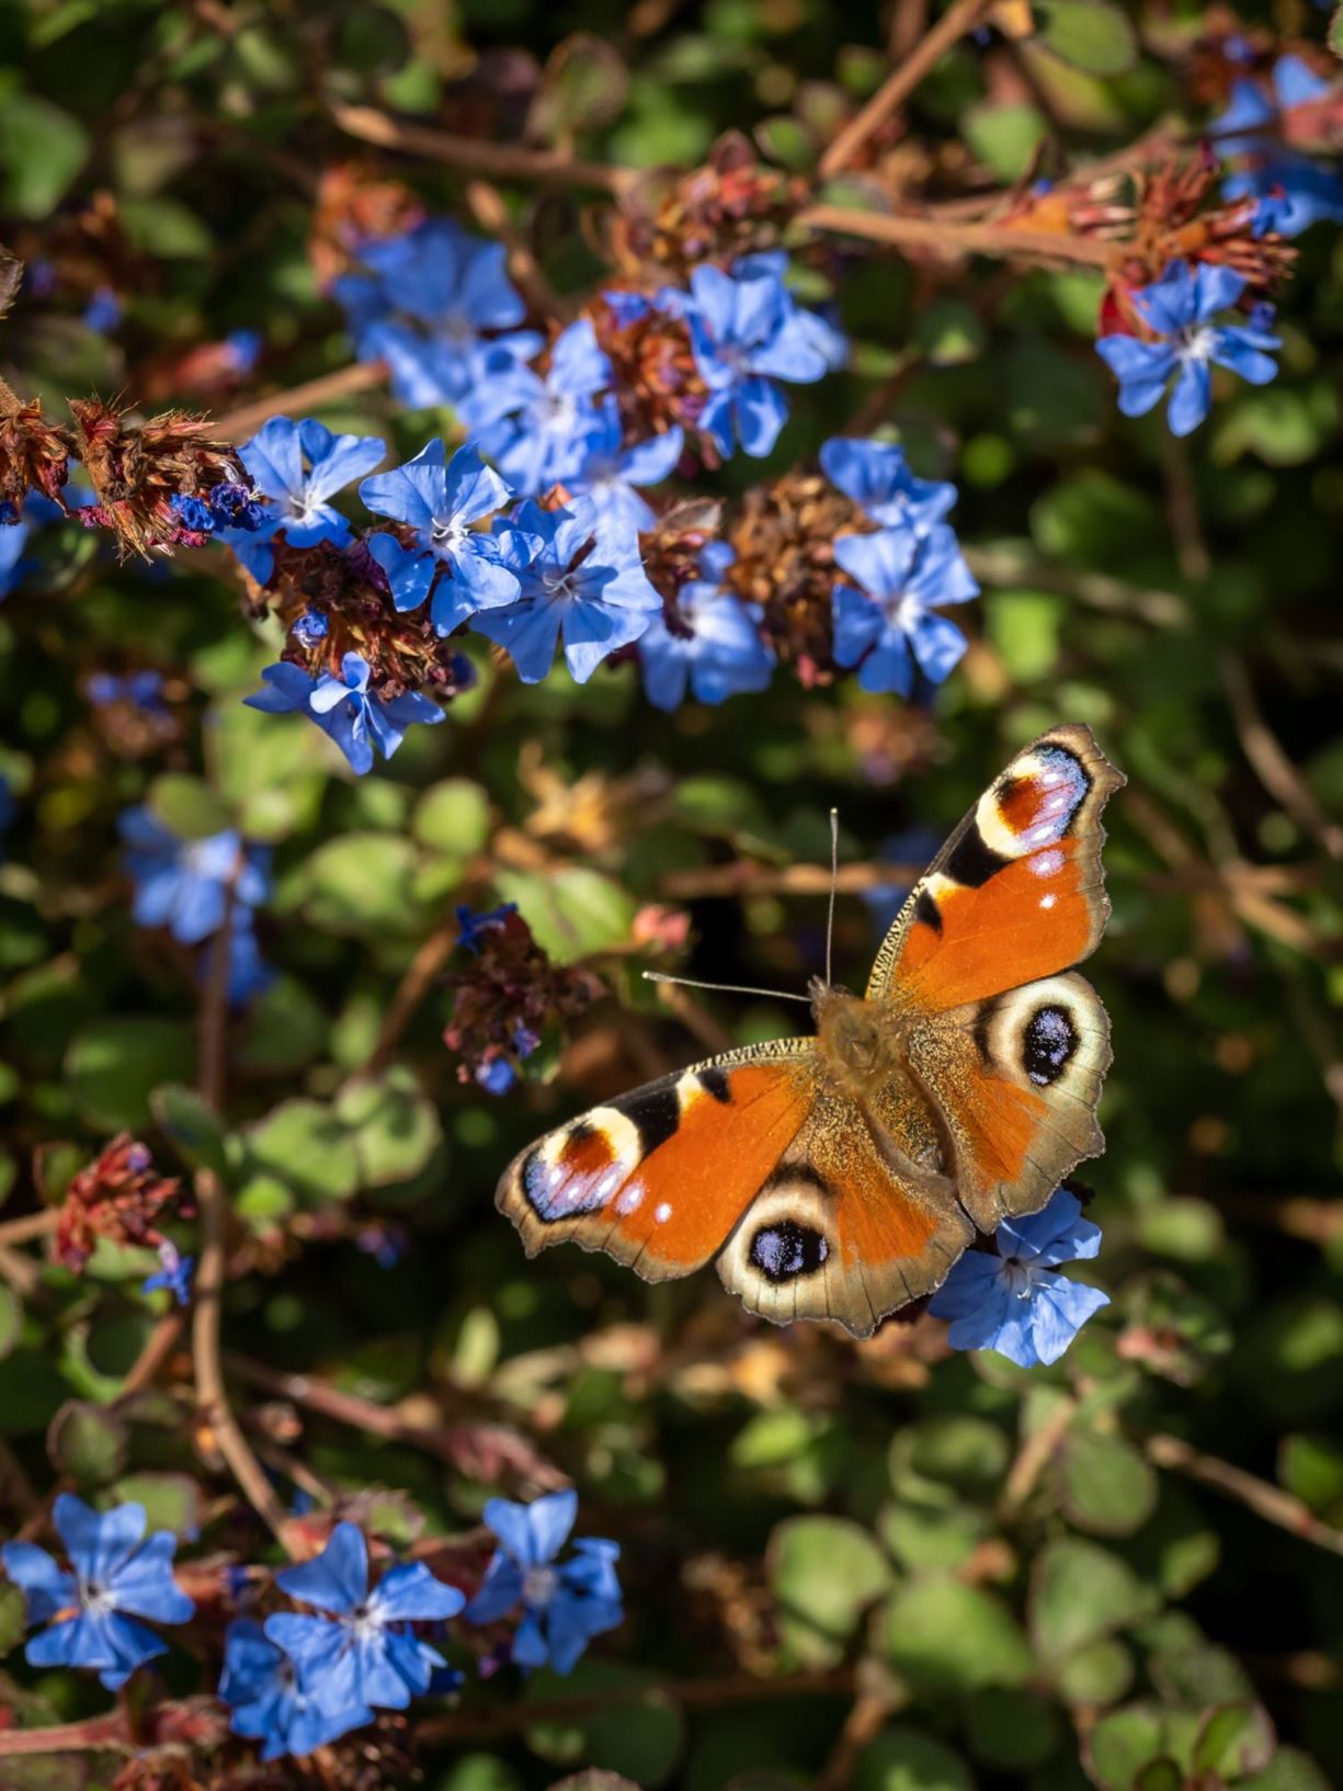
<svg viewBox="0 0 1343 1791"><path fill-rule="evenodd" d="M766 1565L784 1642L806 1666L840 1660L863 1612L890 1585L883 1551L843 1517L790 1517L770 1537Z"/></svg>

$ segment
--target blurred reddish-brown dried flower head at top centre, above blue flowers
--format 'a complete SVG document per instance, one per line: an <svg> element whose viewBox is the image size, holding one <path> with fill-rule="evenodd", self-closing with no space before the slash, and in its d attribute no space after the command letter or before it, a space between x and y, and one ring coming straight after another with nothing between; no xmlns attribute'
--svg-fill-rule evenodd
<svg viewBox="0 0 1343 1791"><path fill-rule="evenodd" d="M702 168L654 168L620 197L607 251L632 278L686 279L704 261L777 249L806 202L806 183L768 168L738 131L720 136Z"/></svg>

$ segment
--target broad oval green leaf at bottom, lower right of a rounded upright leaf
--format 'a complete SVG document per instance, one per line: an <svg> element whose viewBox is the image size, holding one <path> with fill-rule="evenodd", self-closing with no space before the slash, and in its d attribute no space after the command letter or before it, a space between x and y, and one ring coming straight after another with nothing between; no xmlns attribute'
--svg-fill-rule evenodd
<svg viewBox="0 0 1343 1791"><path fill-rule="evenodd" d="M949 1574L920 1574L883 1612L890 1666L922 1694L1021 1685L1031 1651L1001 1599Z"/></svg>

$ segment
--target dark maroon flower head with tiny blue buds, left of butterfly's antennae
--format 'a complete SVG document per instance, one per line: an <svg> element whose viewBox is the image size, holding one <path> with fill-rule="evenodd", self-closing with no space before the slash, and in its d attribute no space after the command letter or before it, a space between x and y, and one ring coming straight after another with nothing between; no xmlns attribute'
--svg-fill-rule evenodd
<svg viewBox="0 0 1343 1791"><path fill-rule="evenodd" d="M507 1094L546 1032L578 1014L596 985L582 971L552 964L514 903L487 913L458 908L457 924L458 946L473 962L449 978L453 1017L444 1044L462 1058L462 1082Z"/></svg>

